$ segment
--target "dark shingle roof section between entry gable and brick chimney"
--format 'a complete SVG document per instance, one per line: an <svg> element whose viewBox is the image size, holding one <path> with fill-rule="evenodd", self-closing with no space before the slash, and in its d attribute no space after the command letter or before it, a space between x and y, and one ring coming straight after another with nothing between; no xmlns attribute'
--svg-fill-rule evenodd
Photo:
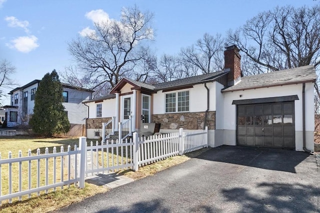
<svg viewBox="0 0 320 213"><path fill-rule="evenodd" d="M169 89L169 88L174 88L174 87L179 87L179 86L192 85L192 84L200 83L200 82L203 82L206 80L212 80L215 77L218 77L223 73L224 73L223 71L212 72L212 73L208 73L208 74L177 79L174 81L158 83L158 84L154 84L153 86L155 87L154 90L162 90L162 89Z"/></svg>

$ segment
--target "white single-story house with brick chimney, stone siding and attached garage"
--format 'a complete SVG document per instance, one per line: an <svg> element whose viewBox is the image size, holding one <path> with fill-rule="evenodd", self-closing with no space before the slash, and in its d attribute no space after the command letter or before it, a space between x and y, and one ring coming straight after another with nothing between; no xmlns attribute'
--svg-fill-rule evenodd
<svg viewBox="0 0 320 213"><path fill-rule="evenodd" d="M89 107L87 137L101 132L101 123L131 115L132 129L145 122L161 123L161 132L203 129L209 146L242 145L314 150L314 66L241 77L235 45L224 52L225 69L149 85L123 78ZM116 125L117 128L117 125Z"/></svg>

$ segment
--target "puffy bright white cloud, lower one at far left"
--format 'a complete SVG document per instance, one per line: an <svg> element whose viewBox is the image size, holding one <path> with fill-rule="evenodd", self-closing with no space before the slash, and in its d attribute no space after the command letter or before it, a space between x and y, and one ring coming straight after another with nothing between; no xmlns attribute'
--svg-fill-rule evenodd
<svg viewBox="0 0 320 213"><path fill-rule="evenodd" d="M27 53L35 49L39 45L36 43L37 37L31 36L20 36L14 40L11 40L11 44L7 44L10 48L14 48L19 52Z"/></svg>

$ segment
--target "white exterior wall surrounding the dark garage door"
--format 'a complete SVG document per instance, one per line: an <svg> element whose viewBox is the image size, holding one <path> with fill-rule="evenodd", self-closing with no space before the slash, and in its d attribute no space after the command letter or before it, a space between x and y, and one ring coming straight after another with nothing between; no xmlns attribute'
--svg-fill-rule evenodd
<svg viewBox="0 0 320 213"><path fill-rule="evenodd" d="M240 97L241 95L241 97ZM233 100L267 98L277 96L297 95L299 100L294 101L294 123L295 123L295 150L303 151L302 144L302 84L276 86L269 88L259 88L244 91L225 92L224 96L224 123L223 138L216 137L217 143L225 145L236 145L236 105L232 105ZM217 112L218 113L218 112ZM314 150L314 102L313 83L305 84L305 130L306 148Z"/></svg>

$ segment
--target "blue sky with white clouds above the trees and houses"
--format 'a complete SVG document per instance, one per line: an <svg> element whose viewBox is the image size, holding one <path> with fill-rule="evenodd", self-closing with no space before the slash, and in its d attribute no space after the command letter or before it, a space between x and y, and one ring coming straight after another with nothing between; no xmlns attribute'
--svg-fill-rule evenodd
<svg viewBox="0 0 320 213"><path fill-rule="evenodd" d="M20 86L53 69L74 64L67 42L93 28L90 11L119 19L120 10L136 4L154 13L158 55L178 53L205 32L225 35L258 12L279 5L314 5L313 0L0 0L0 59L16 67L11 76ZM7 93L10 88L1 88ZM9 104L9 100L2 100Z"/></svg>

